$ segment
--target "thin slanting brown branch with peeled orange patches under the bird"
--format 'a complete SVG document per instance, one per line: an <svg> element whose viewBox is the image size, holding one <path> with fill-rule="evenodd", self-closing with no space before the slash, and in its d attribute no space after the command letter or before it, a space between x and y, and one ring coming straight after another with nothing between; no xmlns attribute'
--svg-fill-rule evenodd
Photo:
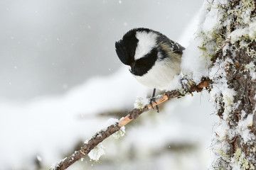
<svg viewBox="0 0 256 170"><path fill-rule="evenodd" d="M200 92L203 90L204 87L208 88L210 84L210 81L208 79L203 80L200 84L193 84L192 81L189 81L186 85L186 88L181 90L173 90L173 91L166 91L166 93L159 98L156 103L152 103L152 106L159 105L160 103L163 103L164 101L170 100L172 98L178 98L181 96L185 96L186 94L191 94L192 92ZM51 167L51 170L64 170L67 169L70 165L77 162L79 159L85 156L85 154L88 154L92 149L94 149L100 142L105 140L107 137L112 135L114 132L117 132L122 126L127 125L130 121L136 119L139 115L142 113L149 111L151 106L147 104L144 106L144 108L134 108L132 111L129 112L129 114L121 118L118 123L115 125L110 125L107 127L106 130L101 130L100 132L97 132L87 143L82 145L81 149L79 151L75 151L72 155L69 157L65 157L65 159L60 160L58 164L55 164L55 166Z"/></svg>

